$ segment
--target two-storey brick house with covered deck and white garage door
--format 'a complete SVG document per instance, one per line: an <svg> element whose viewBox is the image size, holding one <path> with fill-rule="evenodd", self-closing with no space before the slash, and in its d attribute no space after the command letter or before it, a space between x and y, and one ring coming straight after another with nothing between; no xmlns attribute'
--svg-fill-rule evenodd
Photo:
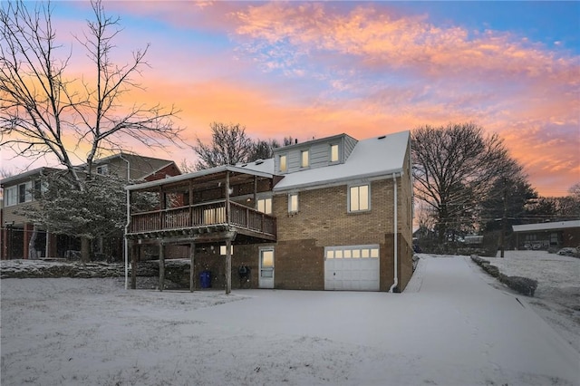
<svg viewBox="0 0 580 386"><path fill-rule="evenodd" d="M131 185L131 200L159 195L157 207L131 213L133 264L160 258L162 282L166 258L189 257L192 290L208 286L201 271L211 271L209 284L227 291L247 279L259 288L401 291L412 275L410 143L408 131L341 134L275 149L273 159Z"/></svg>

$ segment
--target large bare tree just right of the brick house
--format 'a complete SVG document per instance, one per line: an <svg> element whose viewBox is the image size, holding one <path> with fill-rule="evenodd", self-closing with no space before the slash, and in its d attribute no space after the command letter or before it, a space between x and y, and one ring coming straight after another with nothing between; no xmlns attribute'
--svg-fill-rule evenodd
<svg viewBox="0 0 580 386"><path fill-rule="evenodd" d="M498 135L473 123L417 128L411 149L415 196L435 209L440 243L474 227L478 203L514 164Z"/></svg>

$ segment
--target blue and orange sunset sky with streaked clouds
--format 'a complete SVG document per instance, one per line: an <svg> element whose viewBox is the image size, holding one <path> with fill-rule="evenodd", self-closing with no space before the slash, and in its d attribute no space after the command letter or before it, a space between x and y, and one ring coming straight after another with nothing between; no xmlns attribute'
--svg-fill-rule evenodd
<svg viewBox="0 0 580 386"><path fill-rule="evenodd" d="M82 73L89 4L54 2ZM134 101L175 105L184 140L213 121L253 138L363 140L472 121L505 141L542 196L580 182L579 2L105 2L121 16L115 58L150 43ZM71 48L73 47L73 48ZM75 75L73 75L75 76ZM192 160L193 151L132 148ZM2 168L29 165L1 150ZM78 154L80 162L83 154ZM52 163L52 164L51 164Z"/></svg>

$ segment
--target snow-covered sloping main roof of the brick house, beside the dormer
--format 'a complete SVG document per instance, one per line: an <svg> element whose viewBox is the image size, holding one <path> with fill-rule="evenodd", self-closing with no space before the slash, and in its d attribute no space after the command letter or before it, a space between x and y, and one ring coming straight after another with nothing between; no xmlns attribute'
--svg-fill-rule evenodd
<svg viewBox="0 0 580 386"><path fill-rule="evenodd" d="M410 132L359 140L343 164L285 174L274 191L333 185L352 179L371 179L401 172Z"/></svg>

